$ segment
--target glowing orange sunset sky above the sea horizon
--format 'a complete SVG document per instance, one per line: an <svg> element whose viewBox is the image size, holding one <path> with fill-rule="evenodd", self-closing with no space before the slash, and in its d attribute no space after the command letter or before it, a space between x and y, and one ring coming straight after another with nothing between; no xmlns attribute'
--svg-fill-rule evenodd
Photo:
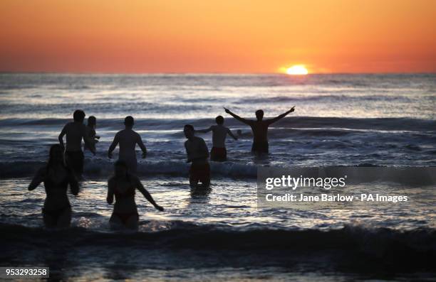
<svg viewBox="0 0 436 282"><path fill-rule="evenodd" d="M433 0L1 0L0 71L436 72Z"/></svg>

